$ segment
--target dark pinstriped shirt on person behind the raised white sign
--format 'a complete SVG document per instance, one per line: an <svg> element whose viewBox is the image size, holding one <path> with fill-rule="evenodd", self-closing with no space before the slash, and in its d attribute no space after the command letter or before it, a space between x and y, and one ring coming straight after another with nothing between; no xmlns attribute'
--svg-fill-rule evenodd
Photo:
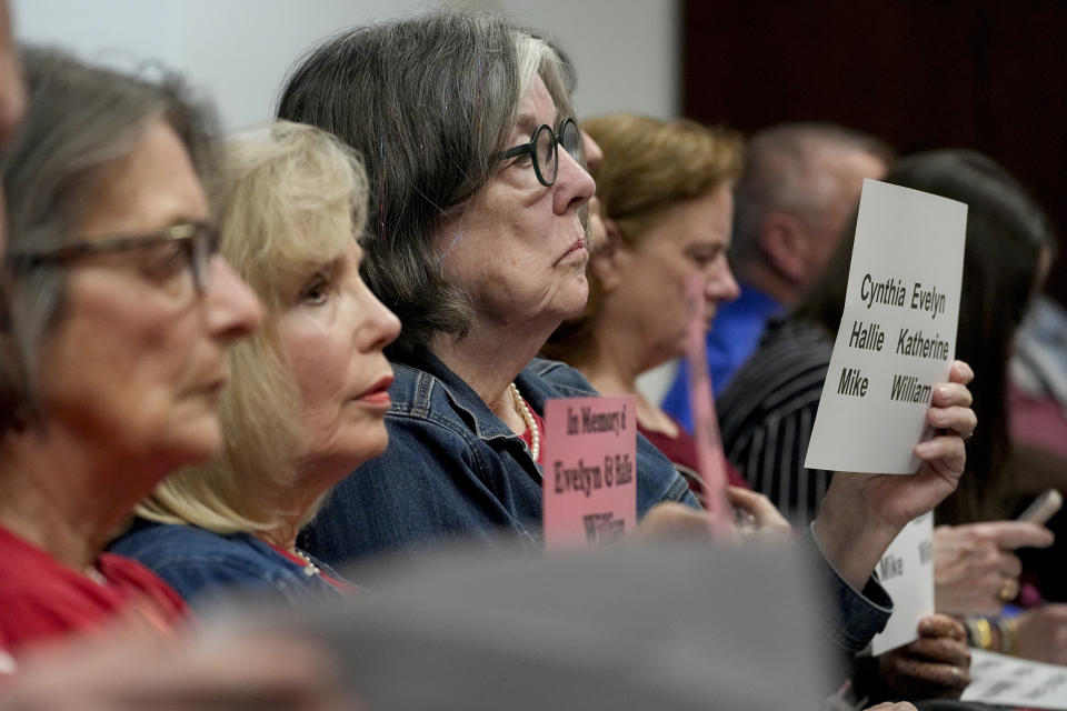
<svg viewBox="0 0 1067 711"><path fill-rule="evenodd" d="M796 527L806 527L832 472L804 460L834 341L807 323L772 320L716 402L727 459Z"/></svg>

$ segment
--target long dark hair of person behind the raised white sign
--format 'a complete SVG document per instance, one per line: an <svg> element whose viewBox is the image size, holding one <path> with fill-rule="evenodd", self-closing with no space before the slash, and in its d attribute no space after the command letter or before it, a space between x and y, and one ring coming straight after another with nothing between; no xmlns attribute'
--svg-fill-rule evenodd
<svg viewBox="0 0 1067 711"><path fill-rule="evenodd" d="M978 415L967 443L967 473L937 509L943 523L1004 518L1010 487L1007 412L1008 359L1015 331L1038 287L1040 257L1056 247L1051 223L1026 190L991 159L966 150L918 153L885 178L968 206L956 357L975 370L969 385ZM804 297L794 318L840 327L856 221L846 228L827 271Z"/></svg>

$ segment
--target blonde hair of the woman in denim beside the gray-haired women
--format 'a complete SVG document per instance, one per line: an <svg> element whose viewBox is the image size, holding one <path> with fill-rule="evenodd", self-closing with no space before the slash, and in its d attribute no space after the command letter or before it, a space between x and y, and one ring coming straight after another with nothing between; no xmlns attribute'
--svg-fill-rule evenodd
<svg viewBox="0 0 1067 711"><path fill-rule="evenodd" d="M308 278L362 232L367 176L360 158L329 133L278 121L226 146L212 188L219 251L259 297L263 328L227 354L221 454L171 474L137 513L216 533L263 531L282 512L257 492L265 481L291 484L306 448L299 393L273 324ZM303 521L320 502L302 512Z"/></svg>

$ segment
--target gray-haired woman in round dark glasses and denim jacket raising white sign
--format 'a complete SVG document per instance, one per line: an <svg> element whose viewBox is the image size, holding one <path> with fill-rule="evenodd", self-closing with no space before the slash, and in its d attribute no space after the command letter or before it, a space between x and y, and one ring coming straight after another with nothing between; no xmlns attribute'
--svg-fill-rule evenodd
<svg viewBox="0 0 1067 711"><path fill-rule="evenodd" d="M499 529L539 548L545 403L594 393L574 369L535 359L588 296L581 212L594 183L580 134L569 136L558 54L482 13L360 28L302 60L279 116L362 153L363 273L403 323L386 351L396 371L389 449L337 487L308 531L310 550L339 562ZM917 475L841 474L805 538L828 563L844 613L830 624L849 651L888 617L875 563L956 487L960 434L975 425L970 377L959 363L938 388L929 417L944 429L916 447ZM664 511L705 525L686 508L696 501L685 479L647 440L637 447L642 525Z"/></svg>

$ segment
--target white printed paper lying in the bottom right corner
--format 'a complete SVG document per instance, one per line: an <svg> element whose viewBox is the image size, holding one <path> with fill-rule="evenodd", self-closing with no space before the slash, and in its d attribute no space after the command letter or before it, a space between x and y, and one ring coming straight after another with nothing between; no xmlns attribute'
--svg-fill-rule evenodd
<svg viewBox="0 0 1067 711"><path fill-rule="evenodd" d="M1067 667L973 649L970 679L960 701L1067 709Z"/></svg>

